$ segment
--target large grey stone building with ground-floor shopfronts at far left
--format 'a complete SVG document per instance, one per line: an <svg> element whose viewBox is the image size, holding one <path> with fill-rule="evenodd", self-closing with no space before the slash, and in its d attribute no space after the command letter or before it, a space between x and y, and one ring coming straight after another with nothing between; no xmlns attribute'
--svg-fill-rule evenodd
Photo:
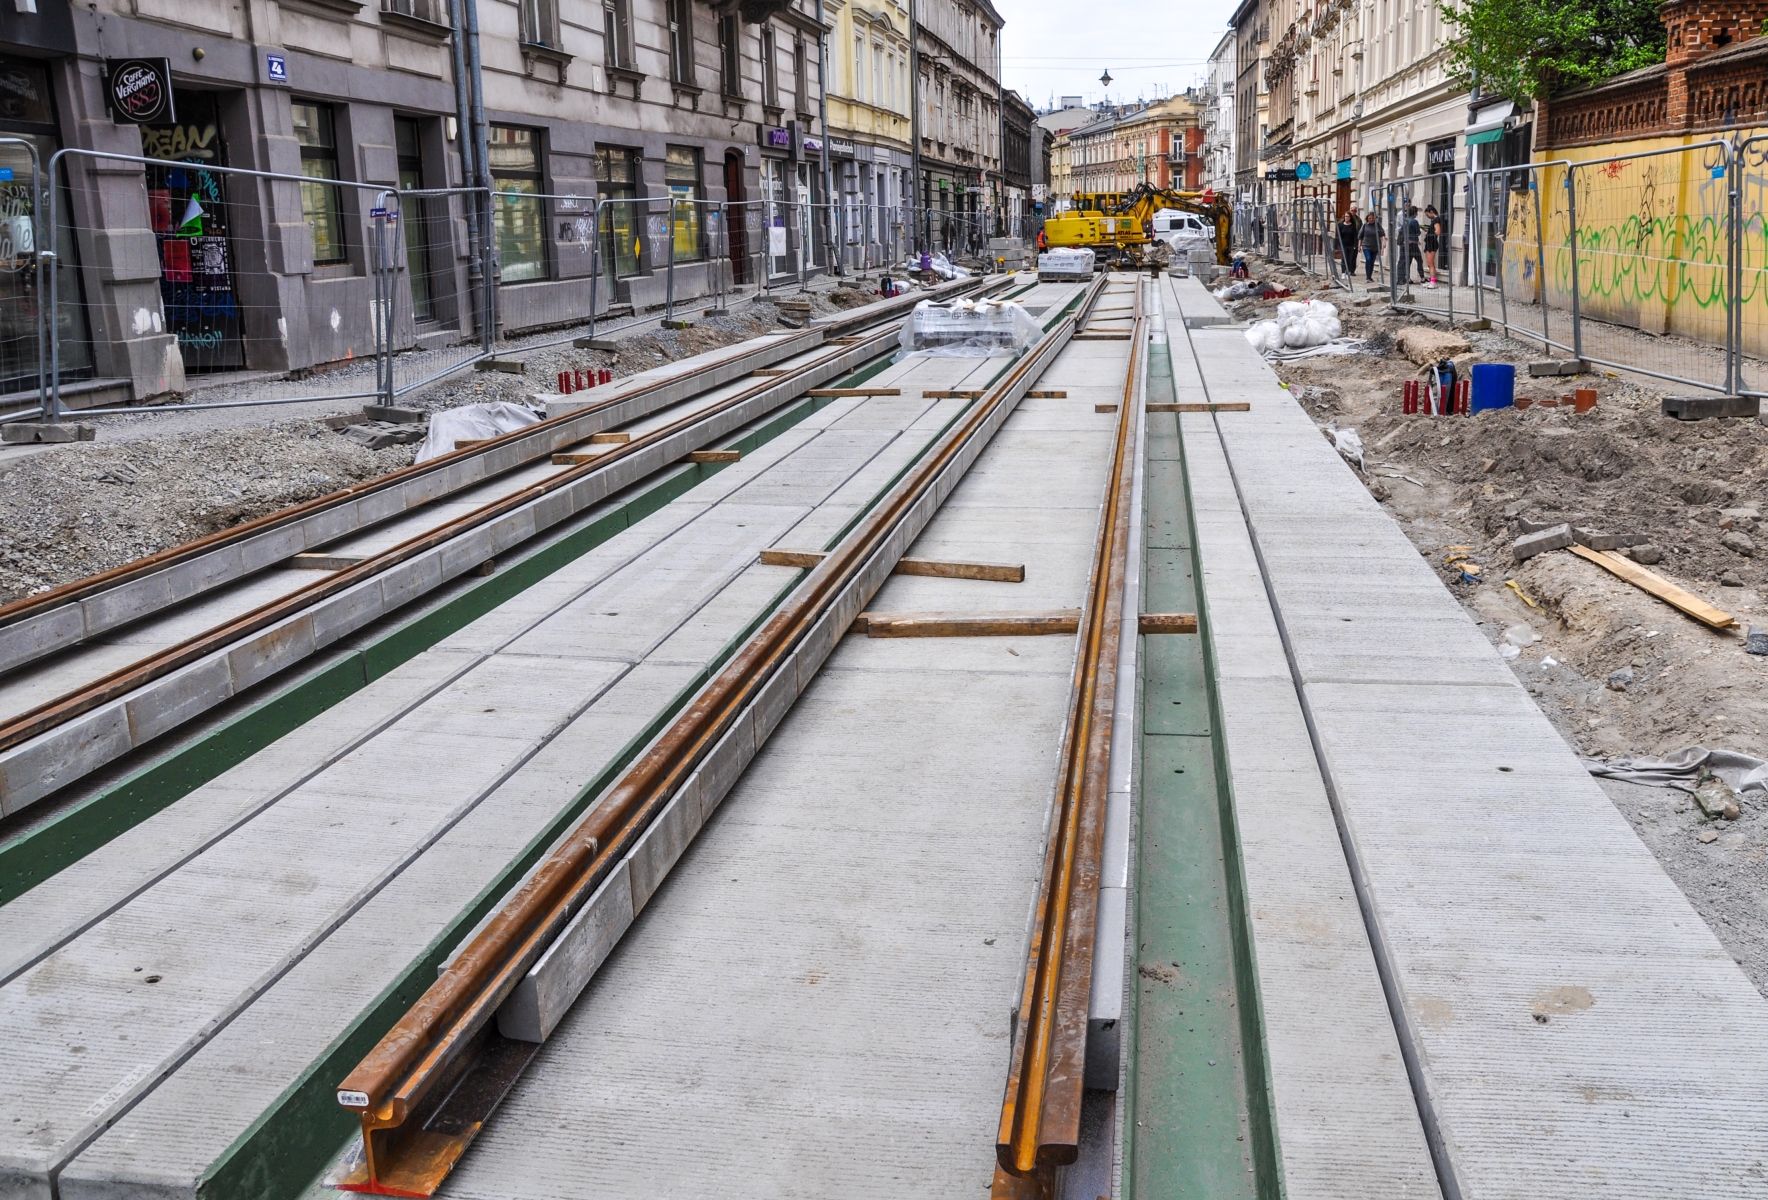
<svg viewBox="0 0 1768 1200"><path fill-rule="evenodd" d="M83 389L83 403L143 399L184 389L194 373L371 353L377 193L350 184L472 182L461 173L472 131L460 122L453 34L463 2L21 0L5 11L0 136L28 140L44 161L64 147L152 159L64 159L64 391ZM598 240L601 304L659 300L672 253L677 295L707 290L713 258L727 253L739 281L797 269L796 223L783 254L757 256L769 219L760 209L739 210L746 219L727 240L693 205L670 228L668 200L819 198L826 27L815 0L481 0L477 21L486 175L514 193L492 230L506 332L580 318ZM150 124L122 124L106 104L106 60L120 58L147 64L131 80L163 85L170 104ZM12 178L28 178L23 147L5 150ZM205 166L309 182L258 184ZM28 214L28 186L14 191ZM591 196L629 201L599 237ZM403 216L396 343L470 336L481 315L467 207L438 196ZM14 244L19 254L28 247ZM30 272L5 279L0 306L14 320L35 313ZM34 380L27 343L0 355L0 391Z"/></svg>

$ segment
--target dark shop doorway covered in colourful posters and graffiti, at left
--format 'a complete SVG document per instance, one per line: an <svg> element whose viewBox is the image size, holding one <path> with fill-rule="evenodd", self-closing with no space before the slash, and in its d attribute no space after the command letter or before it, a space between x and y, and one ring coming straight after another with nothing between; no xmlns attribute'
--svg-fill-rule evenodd
<svg viewBox="0 0 1768 1200"><path fill-rule="evenodd" d="M141 125L141 148L164 166L147 168L147 207L159 244L159 297L166 332L179 339L189 373L246 366L233 254L228 242L226 143L212 92L173 92L177 125Z"/></svg>

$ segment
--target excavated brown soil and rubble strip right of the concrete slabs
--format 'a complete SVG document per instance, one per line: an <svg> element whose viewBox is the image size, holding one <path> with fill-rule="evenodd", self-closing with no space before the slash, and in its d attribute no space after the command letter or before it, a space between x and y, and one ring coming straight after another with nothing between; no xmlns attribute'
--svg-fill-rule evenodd
<svg viewBox="0 0 1768 1200"><path fill-rule="evenodd" d="M1533 629L1538 642L1512 668L1566 742L1600 758L1683 746L1768 758L1768 657L1743 649L1749 626L1768 626L1761 421L1664 417L1665 392L1642 376L1535 380L1526 364L1542 355L1496 332L1464 336L1475 362L1517 364L1519 396L1558 399L1593 387L1597 408L1577 415L1536 403L1476 417L1404 415L1402 384L1420 368L1393 339L1409 325L1441 322L1395 313L1384 299L1358 308L1317 277L1261 269L1296 299L1338 304L1345 336L1370 339L1370 353L1284 362L1276 373L1322 429L1358 431L1370 493L1482 631L1501 643L1508 627ZM1276 300L1229 308L1259 320L1275 315ZM1566 550L1515 562L1512 546L1529 521L1648 539L1625 553L1733 613L1740 627L1710 629ZM1459 555L1482 567L1478 581L1448 562ZM1745 797L1743 818L1724 822L1681 792L1612 781L1604 788L1768 993L1768 802Z"/></svg>

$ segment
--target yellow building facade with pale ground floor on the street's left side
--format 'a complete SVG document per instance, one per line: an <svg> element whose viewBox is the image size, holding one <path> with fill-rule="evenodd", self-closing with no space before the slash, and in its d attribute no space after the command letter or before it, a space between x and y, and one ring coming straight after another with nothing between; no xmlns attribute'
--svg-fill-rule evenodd
<svg viewBox="0 0 1768 1200"><path fill-rule="evenodd" d="M902 205L914 200L914 101L909 9L896 0L826 0L829 159L842 198L847 265L900 249Z"/></svg>

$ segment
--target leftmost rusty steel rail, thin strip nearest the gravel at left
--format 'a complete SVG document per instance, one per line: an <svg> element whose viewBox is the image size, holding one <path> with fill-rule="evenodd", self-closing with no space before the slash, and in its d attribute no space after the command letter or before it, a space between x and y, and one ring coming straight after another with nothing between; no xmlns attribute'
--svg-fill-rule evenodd
<svg viewBox="0 0 1768 1200"><path fill-rule="evenodd" d="M939 299L939 297L946 297L946 295L955 295L955 293L960 293L960 292L965 292L965 290L974 290L978 286L985 286L985 285L990 285L990 283L999 285L1001 281L999 279L990 281L990 279L983 279L983 277L960 279L960 281L946 285L942 288L935 288L934 292L928 292L928 293L911 293L911 295L905 295L905 297L896 297L896 299L891 299L891 300L882 300L880 304L870 304L870 306L866 306L863 309L854 309L852 313L831 318L829 322L826 322L822 325L815 325L815 327L812 327L808 330L803 330L794 339L803 339L806 343L804 348L803 348L803 352L812 352L812 350L817 350L819 346L829 345L829 341L833 338L849 336L849 334L854 334L857 330L865 330L870 325L889 322L889 320L896 320L903 311L914 308L914 304L919 302L919 300L923 300L923 299L930 299L930 297ZM815 341L813 339L815 334L822 334L822 341ZM732 355L732 359L741 359L741 357L743 357L741 353ZM472 477L465 479L458 488L447 488L447 490L440 491L438 495L424 500L424 504L431 504L435 500L447 498L449 495L453 495L454 491L458 491L461 488L472 488L472 486L479 486L479 484L490 482L492 479L506 475L506 474L509 474L513 470L520 470L522 467L527 467L529 463L552 454L553 449L557 449L557 447L553 447L550 444L550 440L546 438L546 435L550 431L553 431L553 429L557 429L557 428L560 428L560 426L564 426L568 422L582 421L585 415L594 415L594 414L603 412L603 410L606 410L606 408L610 408L613 405L624 405L624 403L631 403L635 399L642 399L644 396L658 392L658 391L661 391L665 387L670 387L674 384L675 384L675 380L659 380L659 382L651 384L647 387L624 392L624 394L621 394L617 398L610 398L610 399L601 401L601 403L587 405L583 408L578 408L575 412L564 414L560 417L552 417L548 421L541 421L541 422L532 424L532 426L523 426L522 429L516 429L514 433L507 433L507 435L504 435L500 438L495 438L495 440L490 440L490 442L481 442L479 445L472 445L472 447L467 447L467 449L453 451L453 452L444 454L440 458L433 458L428 463L414 463L412 467L403 467L400 470L394 470L394 472L389 472L385 475L380 475L378 479L373 479L373 481L368 481L368 482L362 482L362 484L355 484L355 486L350 486L350 488L341 488L341 490L327 493L324 497L315 497L313 500L304 500L304 502L290 505L286 509L278 509L276 513L267 513L267 514L263 514L260 518L255 518L251 521L244 521L240 525L233 525L233 527L225 528L225 530L216 530L214 534L207 534L203 537L198 537L194 541L184 543L180 546L171 546L168 550L161 550L159 553L149 555L145 558L136 558L134 562L127 562L127 564L124 564L120 567L111 567L110 571L103 571L99 574L90 574L90 576L85 576L85 578L80 578L80 580L69 580L67 583L62 583L60 587L55 587L55 589L51 589L48 592L41 592L37 596L25 596L25 597L19 597L19 599L11 601L7 604L0 604L0 631L9 629L9 627L12 627L12 626L16 626L19 622L30 620L34 617L41 617L44 613L50 613L53 610L65 608L65 606L71 606L71 604L76 604L76 603L81 603L81 601L88 601L88 599L92 599L95 596L104 594L110 589L120 587L124 583L131 583L131 581L140 580L143 576L154 574L156 571L164 571L164 569L175 567L179 564L189 562L191 558L198 558L198 557L202 557L205 553L214 553L217 550L225 550L228 546L237 544L237 543L244 543L244 541L248 541L251 537L256 537L260 534L267 534L267 532L272 532L272 530L293 525L297 521L302 521L306 518L311 518L311 516L316 516L316 514L322 514L322 513L329 513L332 509L339 509L339 507L343 507L347 504L359 504L366 497L373 497L377 493L384 493L384 491L389 491L389 490L394 490L394 488L401 488L401 486L405 486L405 484L408 484L408 482L412 482L415 479L421 479L424 475L433 475L433 474L438 474L438 472L449 472L453 468L458 468L467 459L486 458L490 454L506 451L511 442L522 442L522 440L532 438L536 449L530 454L516 456L513 461L509 461L507 465L504 465L504 467L500 467L497 470L490 470L486 474L472 475ZM364 396L366 396L366 392L364 392ZM143 408L140 408L140 412L154 412L154 408L152 406L143 406ZM423 507L423 505L415 505L415 507ZM401 507L400 511L391 513L385 518L380 518L377 521L368 521L362 527L354 528L350 532L361 532L362 528L371 528L377 523L384 523L387 520L398 520L401 516L408 516L410 513L415 511L415 507ZM235 578L244 578L244 576L219 578L216 581L216 585L230 583ZM198 592L198 594L202 594L202 592ZM193 599L193 596L168 596L166 603L152 606L152 608L143 608L143 611L138 617L133 617L133 619L152 615L154 611L159 611L161 608L168 606L170 603L182 603L186 599ZM81 640L83 638L78 638L78 640L72 640L72 642L64 642L64 643L58 643L55 649L65 649L67 645L78 645Z"/></svg>

